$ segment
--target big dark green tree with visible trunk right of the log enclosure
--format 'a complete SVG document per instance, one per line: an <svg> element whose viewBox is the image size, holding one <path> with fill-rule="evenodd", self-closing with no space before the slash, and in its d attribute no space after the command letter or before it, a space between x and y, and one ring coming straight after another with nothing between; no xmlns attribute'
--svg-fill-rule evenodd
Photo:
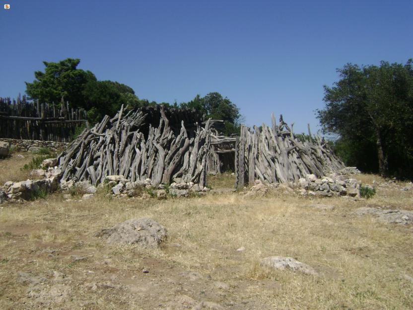
<svg viewBox="0 0 413 310"><path fill-rule="evenodd" d="M382 175L413 176L413 60L406 65L346 64L340 80L324 86L317 111L325 133L340 135L347 163Z"/></svg>

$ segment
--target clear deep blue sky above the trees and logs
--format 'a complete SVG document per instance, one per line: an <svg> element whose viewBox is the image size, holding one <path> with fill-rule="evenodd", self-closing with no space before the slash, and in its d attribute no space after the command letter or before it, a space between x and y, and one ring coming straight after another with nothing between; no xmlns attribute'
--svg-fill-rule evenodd
<svg viewBox="0 0 413 310"><path fill-rule="evenodd" d="M1 97L24 93L42 61L79 58L79 68L139 98L218 91L247 125L275 112L314 132L337 68L413 58L412 0L0 2Z"/></svg>

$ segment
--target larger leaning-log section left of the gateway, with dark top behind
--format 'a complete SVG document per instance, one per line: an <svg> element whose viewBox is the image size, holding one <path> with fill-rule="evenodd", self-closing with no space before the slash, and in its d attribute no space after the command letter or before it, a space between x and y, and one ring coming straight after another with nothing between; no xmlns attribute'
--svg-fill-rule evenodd
<svg viewBox="0 0 413 310"><path fill-rule="evenodd" d="M212 122L201 123L199 117L195 110L122 106L113 118L105 116L85 129L59 155L62 179L96 185L107 175L123 175L131 182L149 178L152 185L182 181L205 186Z"/></svg>

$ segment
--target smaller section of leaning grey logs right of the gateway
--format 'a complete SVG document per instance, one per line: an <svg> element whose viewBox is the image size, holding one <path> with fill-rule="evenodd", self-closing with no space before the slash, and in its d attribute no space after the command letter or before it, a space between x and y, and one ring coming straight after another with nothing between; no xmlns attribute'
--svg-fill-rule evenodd
<svg viewBox="0 0 413 310"><path fill-rule="evenodd" d="M298 139L293 124L288 126L280 115L272 127L241 126L235 142L235 186L253 185L256 179L264 183L298 182L307 174L325 176L344 168L328 143L320 137Z"/></svg>

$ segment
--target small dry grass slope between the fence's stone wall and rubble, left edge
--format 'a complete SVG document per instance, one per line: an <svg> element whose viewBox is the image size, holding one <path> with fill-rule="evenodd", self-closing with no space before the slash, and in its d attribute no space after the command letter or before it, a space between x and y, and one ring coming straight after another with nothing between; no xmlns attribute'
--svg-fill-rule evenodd
<svg viewBox="0 0 413 310"><path fill-rule="evenodd" d="M17 155L23 155L19 158ZM9 158L0 159L0 185L7 181L23 181L31 178L28 170L22 170L25 164L32 161L38 155L30 152L13 153Z"/></svg>

